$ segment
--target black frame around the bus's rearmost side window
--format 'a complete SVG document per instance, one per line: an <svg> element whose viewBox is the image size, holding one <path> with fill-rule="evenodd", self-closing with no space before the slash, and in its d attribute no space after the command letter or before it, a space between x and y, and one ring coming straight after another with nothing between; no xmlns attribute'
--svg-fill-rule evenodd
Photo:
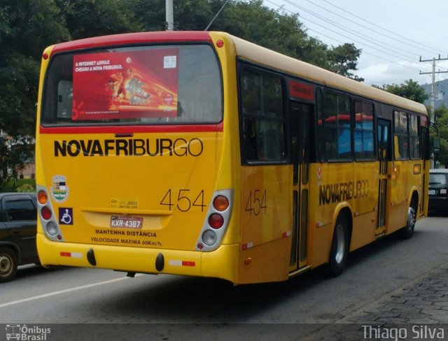
<svg viewBox="0 0 448 341"><path fill-rule="evenodd" d="M246 157L246 148L244 143L244 115L243 115L243 103L242 103L242 87L241 87L241 77L244 71L251 71L254 73L259 73L260 75L276 76L281 80L282 87L282 110L283 118L272 119L273 122L283 122L283 147L285 157L278 161L264 161L264 160L248 160ZM283 73L276 72L269 68L262 68L255 64L250 64L241 59L237 60L237 93L238 93L238 121L239 121L239 151L241 155L241 165L242 166L270 166L270 165L287 165L291 164L290 157L290 115L288 109L289 97L287 92L287 77ZM248 117L253 117L249 115ZM267 119L269 120L269 119Z"/></svg>

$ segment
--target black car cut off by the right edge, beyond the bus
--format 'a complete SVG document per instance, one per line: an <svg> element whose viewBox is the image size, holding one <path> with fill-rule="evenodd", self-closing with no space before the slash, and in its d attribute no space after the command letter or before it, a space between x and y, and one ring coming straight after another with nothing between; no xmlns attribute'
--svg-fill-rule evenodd
<svg viewBox="0 0 448 341"><path fill-rule="evenodd" d="M448 211L448 169L429 170L428 210Z"/></svg>

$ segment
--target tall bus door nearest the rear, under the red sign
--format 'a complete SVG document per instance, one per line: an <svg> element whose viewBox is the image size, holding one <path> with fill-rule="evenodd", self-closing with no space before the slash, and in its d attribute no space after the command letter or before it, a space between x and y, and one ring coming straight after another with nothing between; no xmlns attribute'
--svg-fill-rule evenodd
<svg viewBox="0 0 448 341"><path fill-rule="evenodd" d="M314 106L290 102L291 157L293 161L293 228L290 271L307 265L309 199L309 144Z"/></svg>

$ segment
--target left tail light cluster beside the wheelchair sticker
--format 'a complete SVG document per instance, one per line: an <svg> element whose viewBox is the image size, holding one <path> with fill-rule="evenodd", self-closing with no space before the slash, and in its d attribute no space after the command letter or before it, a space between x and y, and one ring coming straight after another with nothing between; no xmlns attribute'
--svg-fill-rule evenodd
<svg viewBox="0 0 448 341"><path fill-rule="evenodd" d="M37 185L37 205L38 205L38 218L41 221L43 232L45 236L55 242L64 241L62 237L61 229L57 223L57 217L55 210L53 210L51 201L48 200L48 191L45 187Z"/></svg>

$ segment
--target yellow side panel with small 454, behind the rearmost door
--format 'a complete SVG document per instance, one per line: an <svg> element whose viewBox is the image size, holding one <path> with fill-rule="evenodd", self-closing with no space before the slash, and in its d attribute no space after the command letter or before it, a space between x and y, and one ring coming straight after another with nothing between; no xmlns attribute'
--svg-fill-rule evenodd
<svg viewBox="0 0 448 341"><path fill-rule="evenodd" d="M288 278L292 224L292 166L241 167L239 282ZM247 257L249 266L244 265Z"/></svg>

